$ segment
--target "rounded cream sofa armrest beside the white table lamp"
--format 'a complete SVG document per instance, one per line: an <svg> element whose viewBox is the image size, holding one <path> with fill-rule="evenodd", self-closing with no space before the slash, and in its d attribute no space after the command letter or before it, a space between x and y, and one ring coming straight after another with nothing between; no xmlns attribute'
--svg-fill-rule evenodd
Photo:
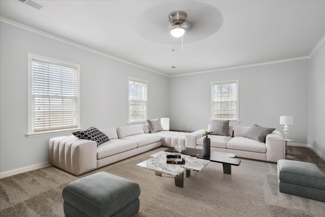
<svg viewBox="0 0 325 217"><path fill-rule="evenodd" d="M267 161L278 162L285 158L285 141L280 132L274 131L266 136Z"/></svg>

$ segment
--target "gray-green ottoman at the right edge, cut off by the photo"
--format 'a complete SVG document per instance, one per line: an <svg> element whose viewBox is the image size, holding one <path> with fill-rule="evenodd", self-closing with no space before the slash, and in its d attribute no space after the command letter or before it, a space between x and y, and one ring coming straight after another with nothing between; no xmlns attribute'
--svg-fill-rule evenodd
<svg viewBox="0 0 325 217"><path fill-rule="evenodd" d="M279 160L278 179L282 193L325 202L325 175L314 164Z"/></svg>

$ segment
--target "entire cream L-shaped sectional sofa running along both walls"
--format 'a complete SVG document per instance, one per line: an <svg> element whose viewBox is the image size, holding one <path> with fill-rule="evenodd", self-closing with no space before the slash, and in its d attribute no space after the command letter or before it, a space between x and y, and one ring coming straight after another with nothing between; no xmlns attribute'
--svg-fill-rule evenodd
<svg viewBox="0 0 325 217"><path fill-rule="evenodd" d="M209 135L211 150L269 162L285 158L285 141L280 132L273 131L266 136L265 142L258 142L244 137L250 127L229 126L227 129L228 136ZM147 124L107 128L100 132L109 141L100 145L96 141L79 139L74 135L54 137L49 140L49 163L79 175L159 146L175 147L178 144L203 149L204 131L184 133L161 129L155 132Z"/></svg>

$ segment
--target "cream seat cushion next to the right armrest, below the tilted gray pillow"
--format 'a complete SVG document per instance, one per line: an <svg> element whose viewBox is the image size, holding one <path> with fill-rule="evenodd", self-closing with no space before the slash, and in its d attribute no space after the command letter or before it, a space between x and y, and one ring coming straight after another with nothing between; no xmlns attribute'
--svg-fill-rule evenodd
<svg viewBox="0 0 325 217"><path fill-rule="evenodd" d="M265 143L257 142L256 140L248 139L241 136L232 138L226 144L226 147L229 149L266 153Z"/></svg>

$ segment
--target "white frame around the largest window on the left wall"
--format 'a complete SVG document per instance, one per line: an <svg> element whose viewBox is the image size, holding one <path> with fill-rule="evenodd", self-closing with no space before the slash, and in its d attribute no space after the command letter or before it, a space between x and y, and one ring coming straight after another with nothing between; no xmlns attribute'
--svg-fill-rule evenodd
<svg viewBox="0 0 325 217"><path fill-rule="evenodd" d="M76 68L77 70L77 127L76 128L67 128L67 129L59 129L59 130L46 130L46 131L34 131L34 114L33 114L33 106L34 106L34 83L33 83L33 59L40 59L44 61L48 61L55 65L63 65L71 68ZM64 132L72 132L76 130L80 130L80 65L68 63L67 61L62 61L58 59L53 59L37 54L28 53L28 131L26 133L27 137L34 137L34 136L43 136L43 135L51 135L57 133L64 133Z"/></svg>

